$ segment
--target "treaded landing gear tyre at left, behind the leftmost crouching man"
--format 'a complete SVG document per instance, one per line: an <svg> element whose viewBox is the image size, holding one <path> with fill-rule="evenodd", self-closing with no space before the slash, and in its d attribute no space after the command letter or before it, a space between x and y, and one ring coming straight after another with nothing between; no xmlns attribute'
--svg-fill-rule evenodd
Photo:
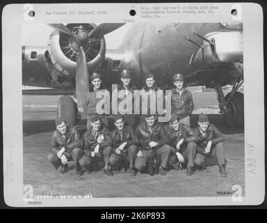
<svg viewBox="0 0 267 223"><path fill-rule="evenodd" d="M58 100L58 116L65 118L67 125L76 125L76 103L67 95Z"/></svg>

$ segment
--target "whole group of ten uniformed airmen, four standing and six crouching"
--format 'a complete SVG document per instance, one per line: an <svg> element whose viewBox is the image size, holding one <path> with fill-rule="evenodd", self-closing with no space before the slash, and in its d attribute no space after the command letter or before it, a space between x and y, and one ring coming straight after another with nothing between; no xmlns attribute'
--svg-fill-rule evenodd
<svg viewBox="0 0 267 223"><path fill-rule="evenodd" d="M118 91L133 92L136 86L131 83L129 70L121 73ZM195 168L206 169L205 157L216 157L221 176L225 171L223 134L209 123L206 114L200 114L198 127L190 128L190 116L193 111L191 92L184 89L184 77L173 76L175 89L171 91L172 115L170 130L165 132L163 125L156 121L156 115L143 115L136 127L136 115L115 115L115 130L108 131L107 118L96 112L96 93L103 89L102 77L94 73L91 85L84 99L84 111L88 115L87 131L83 140L79 139L79 131L67 125L63 117L56 118L56 130L51 139L48 160L61 174L67 171L67 162L74 160L76 174L81 176L84 171L98 171L104 167L104 173L113 176L113 169L128 169L131 176L147 172L153 163L156 172L165 175L166 169L186 168L186 175L191 176ZM158 91L154 75L146 75L146 84L141 91ZM157 101L159 102L159 101ZM147 103L150 105L150 103Z"/></svg>

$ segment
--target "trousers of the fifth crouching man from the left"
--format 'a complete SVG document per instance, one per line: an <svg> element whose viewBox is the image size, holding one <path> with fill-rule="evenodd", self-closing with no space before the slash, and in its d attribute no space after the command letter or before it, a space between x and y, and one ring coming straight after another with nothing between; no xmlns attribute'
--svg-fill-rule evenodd
<svg viewBox="0 0 267 223"><path fill-rule="evenodd" d="M184 160L188 160L188 166L193 167L195 159L195 155L197 155L197 144L194 141L189 141L186 145L186 150L181 154L184 157ZM177 155L172 155L170 158L170 165L177 169L177 165L179 165L179 160Z"/></svg>

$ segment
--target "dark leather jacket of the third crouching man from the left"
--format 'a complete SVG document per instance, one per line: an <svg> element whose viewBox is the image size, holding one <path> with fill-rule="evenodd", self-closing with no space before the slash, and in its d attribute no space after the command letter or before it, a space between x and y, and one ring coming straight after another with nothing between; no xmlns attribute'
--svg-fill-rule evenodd
<svg viewBox="0 0 267 223"><path fill-rule="evenodd" d="M118 128L113 130L111 132L111 139L113 141L113 152L115 152L115 149L118 148L122 143L127 142L127 144L124 146L123 152L127 152L127 148L131 145L139 146L139 139L136 137L135 132L133 131L133 128L131 128L130 125L124 125L124 128L122 130L122 139L120 138L120 131Z"/></svg>

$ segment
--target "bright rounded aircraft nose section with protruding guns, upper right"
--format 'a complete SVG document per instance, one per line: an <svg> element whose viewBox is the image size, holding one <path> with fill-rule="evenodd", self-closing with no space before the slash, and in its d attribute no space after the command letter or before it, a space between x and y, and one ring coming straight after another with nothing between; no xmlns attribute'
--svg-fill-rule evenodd
<svg viewBox="0 0 267 223"><path fill-rule="evenodd" d="M243 32L215 32L204 37L212 44L202 41L202 49L197 51L193 60L194 66L218 66L243 60Z"/></svg>

